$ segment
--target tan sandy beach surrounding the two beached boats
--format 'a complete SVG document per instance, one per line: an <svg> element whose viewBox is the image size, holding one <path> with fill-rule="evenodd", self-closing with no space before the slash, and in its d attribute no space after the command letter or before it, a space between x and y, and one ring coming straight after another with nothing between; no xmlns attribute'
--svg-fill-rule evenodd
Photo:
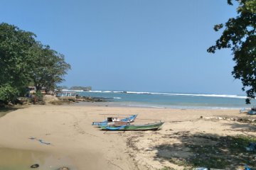
<svg viewBox="0 0 256 170"><path fill-rule="evenodd" d="M138 124L165 123L158 131L129 132L105 132L91 125L110 114L120 118L138 114ZM218 146L215 138L227 136L255 137L255 125L236 121L238 118L254 119L256 115L238 110L127 108L104 103L31 106L0 118L0 169L18 164L11 155L6 161L10 152L17 150L28 155L33 152L32 161L41 169L184 169L185 164L172 158L182 162L196 157L189 146ZM32 164L25 163L28 167ZM238 160L235 166L238 164L245 162Z"/></svg>

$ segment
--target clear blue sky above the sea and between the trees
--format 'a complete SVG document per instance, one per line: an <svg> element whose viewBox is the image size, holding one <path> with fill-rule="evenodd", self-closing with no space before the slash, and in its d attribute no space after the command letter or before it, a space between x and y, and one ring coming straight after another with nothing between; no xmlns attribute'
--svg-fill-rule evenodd
<svg viewBox="0 0 256 170"><path fill-rule="evenodd" d="M237 16L216 0L1 0L0 23L65 55L65 86L93 90L244 94L232 52L210 54Z"/></svg>

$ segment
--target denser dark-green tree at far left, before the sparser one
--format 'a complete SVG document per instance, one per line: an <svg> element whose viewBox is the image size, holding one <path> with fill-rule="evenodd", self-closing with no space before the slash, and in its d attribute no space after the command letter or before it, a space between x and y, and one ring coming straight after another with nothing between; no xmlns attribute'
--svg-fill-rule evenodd
<svg viewBox="0 0 256 170"><path fill-rule="evenodd" d="M14 101L30 80L31 47L36 35L0 24L0 101Z"/></svg>

